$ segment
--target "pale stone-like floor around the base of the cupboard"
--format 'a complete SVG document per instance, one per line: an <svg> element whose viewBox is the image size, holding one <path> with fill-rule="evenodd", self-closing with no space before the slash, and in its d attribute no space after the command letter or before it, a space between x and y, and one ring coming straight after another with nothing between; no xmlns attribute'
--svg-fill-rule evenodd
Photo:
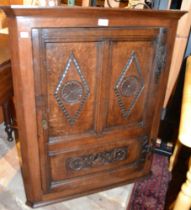
<svg viewBox="0 0 191 210"><path fill-rule="evenodd" d="M36 208L37 210L126 210L133 184ZM29 210L15 142L7 142L0 124L0 210Z"/></svg>

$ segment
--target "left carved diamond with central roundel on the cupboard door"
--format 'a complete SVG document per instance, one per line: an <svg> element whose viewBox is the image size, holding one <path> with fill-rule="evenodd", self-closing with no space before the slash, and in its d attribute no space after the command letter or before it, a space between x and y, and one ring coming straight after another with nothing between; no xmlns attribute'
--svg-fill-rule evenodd
<svg viewBox="0 0 191 210"><path fill-rule="evenodd" d="M71 69L71 63L74 64L76 73L80 77L80 81L65 81L66 75ZM88 83L80 69L78 61L74 57L74 54L71 53L64 68L64 72L61 76L61 79L59 80L56 90L54 92L56 101L70 125L74 125L74 123L78 119L89 94L90 90ZM75 113L70 114L69 111L66 109L66 104L72 106L76 103L79 103L77 111Z"/></svg>

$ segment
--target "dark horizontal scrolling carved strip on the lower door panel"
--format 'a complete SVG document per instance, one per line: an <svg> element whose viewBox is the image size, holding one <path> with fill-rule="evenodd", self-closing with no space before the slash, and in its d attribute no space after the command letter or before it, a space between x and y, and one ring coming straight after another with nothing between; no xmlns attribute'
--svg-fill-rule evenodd
<svg viewBox="0 0 191 210"><path fill-rule="evenodd" d="M128 148L115 148L110 151L89 154L67 160L67 166L70 170L79 171L84 168L105 165L116 161L127 159Z"/></svg>

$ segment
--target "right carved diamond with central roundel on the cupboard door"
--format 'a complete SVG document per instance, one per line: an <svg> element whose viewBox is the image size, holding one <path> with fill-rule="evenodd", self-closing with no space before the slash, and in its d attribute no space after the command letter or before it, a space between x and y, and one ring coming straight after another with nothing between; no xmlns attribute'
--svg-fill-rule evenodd
<svg viewBox="0 0 191 210"><path fill-rule="evenodd" d="M135 64L136 72L132 72L132 75L127 76L127 72L133 63ZM128 118L143 88L144 80L141 67L137 55L133 51L114 86L114 92L124 118ZM124 103L123 97L131 97L131 102L128 106Z"/></svg>

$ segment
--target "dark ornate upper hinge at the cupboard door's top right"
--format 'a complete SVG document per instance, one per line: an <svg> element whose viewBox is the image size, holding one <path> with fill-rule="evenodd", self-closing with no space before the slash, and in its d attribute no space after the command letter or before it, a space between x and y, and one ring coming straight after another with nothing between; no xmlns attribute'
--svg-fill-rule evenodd
<svg viewBox="0 0 191 210"><path fill-rule="evenodd" d="M156 52L156 67L155 67L155 82L159 81L162 69L166 63L166 33L165 28L160 28L160 32L157 38L157 52Z"/></svg>

